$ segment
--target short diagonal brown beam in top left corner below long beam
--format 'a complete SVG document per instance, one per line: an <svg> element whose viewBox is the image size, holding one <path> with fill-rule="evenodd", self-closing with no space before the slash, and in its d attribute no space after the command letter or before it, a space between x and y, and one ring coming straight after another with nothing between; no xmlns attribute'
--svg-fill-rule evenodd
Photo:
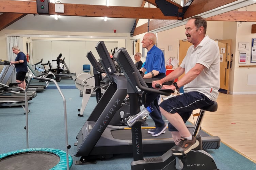
<svg viewBox="0 0 256 170"><path fill-rule="evenodd" d="M0 31L26 15L27 14L3 13L0 15Z"/></svg>

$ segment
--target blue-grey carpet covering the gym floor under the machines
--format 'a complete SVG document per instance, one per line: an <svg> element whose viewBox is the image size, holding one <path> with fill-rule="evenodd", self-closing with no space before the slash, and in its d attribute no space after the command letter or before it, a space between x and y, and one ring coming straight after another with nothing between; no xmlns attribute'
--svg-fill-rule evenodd
<svg viewBox="0 0 256 170"><path fill-rule="evenodd" d="M68 143L71 145L69 155L73 156L74 160L71 170L130 169L130 163L133 160L130 154L115 155L108 160L99 160L97 164L75 165L75 160L80 159L74 156L76 153L76 147L74 146L76 135L95 107L96 97L90 98L84 111L84 117L78 117L77 114L80 113L78 109L81 108L82 97L79 97L80 91L74 89L74 81L65 80L58 84L63 87L61 89L66 98ZM37 97L33 98L33 100L29 101L29 148L55 148L66 151L63 100L58 90L53 88L54 85L51 84L48 87L43 92L38 93ZM0 109L0 154L26 149L24 110L20 106L1 107ZM152 121L149 119L147 122ZM207 150L207 152L213 156L220 170L256 169L255 163L223 143L221 143L219 149ZM152 153L145 156L159 155L160 153Z"/></svg>

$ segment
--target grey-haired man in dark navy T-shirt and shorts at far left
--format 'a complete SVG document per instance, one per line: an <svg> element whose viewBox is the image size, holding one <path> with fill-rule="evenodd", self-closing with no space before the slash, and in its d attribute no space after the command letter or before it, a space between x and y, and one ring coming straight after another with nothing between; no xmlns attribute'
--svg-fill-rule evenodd
<svg viewBox="0 0 256 170"><path fill-rule="evenodd" d="M18 46L12 47L13 53L17 54L15 61L11 61L10 65L15 66L16 69L16 82L19 87L25 89L26 88L26 82L25 82L25 77L28 72L28 65L27 65L27 57L26 55L20 51Z"/></svg>

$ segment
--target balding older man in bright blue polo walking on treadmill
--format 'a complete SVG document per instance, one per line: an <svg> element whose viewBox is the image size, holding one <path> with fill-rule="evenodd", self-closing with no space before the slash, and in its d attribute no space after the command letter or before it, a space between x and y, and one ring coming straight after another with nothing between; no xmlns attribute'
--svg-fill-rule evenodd
<svg viewBox="0 0 256 170"><path fill-rule="evenodd" d="M165 61L163 52L156 47L156 35L153 33L146 33L141 41L142 47L148 50L146 62L144 66L140 69L144 73L143 78L164 78L165 77ZM145 72L147 72L145 74ZM152 87L151 87L152 88ZM150 93L147 95L147 103L144 104L144 107L152 107L154 110L149 115L154 120L156 128L153 130L147 131L152 134L152 136L159 136L162 133L165 133L167 123L164 123L162 119L162 114L158 105L158 100L160 95L155 93Z"/></svg>

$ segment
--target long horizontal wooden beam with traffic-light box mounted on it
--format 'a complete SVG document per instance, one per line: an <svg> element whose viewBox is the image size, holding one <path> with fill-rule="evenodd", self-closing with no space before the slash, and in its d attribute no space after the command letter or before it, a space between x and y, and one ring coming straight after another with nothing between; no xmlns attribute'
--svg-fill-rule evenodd
<svg viewBox="0 0 256 170"><path fill-rule="evenodd" d="M64 13L55 13L55 4L49 3L49 15L109 17L109 18L138 18L138 19L168 19L181 20L182 17L164 16L159 8L64 4ZM1 0L0 12L37 14L36 1Z"/></svg>

